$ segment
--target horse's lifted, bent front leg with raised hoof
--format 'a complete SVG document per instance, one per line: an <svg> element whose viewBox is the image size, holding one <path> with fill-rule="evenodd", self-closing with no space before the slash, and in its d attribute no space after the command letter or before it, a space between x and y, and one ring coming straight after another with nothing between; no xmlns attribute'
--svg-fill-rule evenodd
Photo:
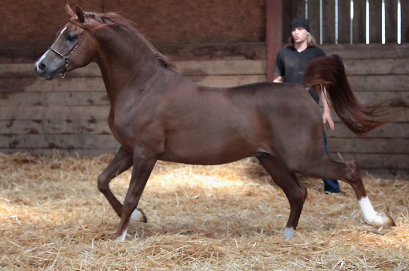
<svg viewBox="0 0 409 271"><path fill-rule="evenodd" d="M98 190L104 194L105 198L108 199L115 213L121 217L122 216L122 204L116 199L112 194L109 183L110 181L130 168L133 163L133 154L128 152L124 147L120 147L115 157L112 159L108 167L99 175L98 177ZM132 220L146 222L147 219L142 210L137 210L132 215Z"/></svg>

